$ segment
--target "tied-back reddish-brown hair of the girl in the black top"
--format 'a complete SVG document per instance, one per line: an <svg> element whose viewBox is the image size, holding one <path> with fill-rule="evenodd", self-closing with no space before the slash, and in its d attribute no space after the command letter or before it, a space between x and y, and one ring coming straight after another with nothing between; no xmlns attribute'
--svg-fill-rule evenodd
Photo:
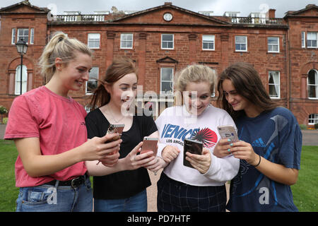
<svg viewBox="0 0 318 226"><path fill-rule="evenodd" d="M107 68L105 77L100 81L100 85L95 89L93 93L92 100L90 101L90 107L92 110L96 107L102 107L110 102L110 93L105 89L105 84L112 85L113 83L119 81L120 78L126 76L129 73L136 73L137 79L137 69L134 61L128 57L118 57L112 61L112 64Z"/></svg>

